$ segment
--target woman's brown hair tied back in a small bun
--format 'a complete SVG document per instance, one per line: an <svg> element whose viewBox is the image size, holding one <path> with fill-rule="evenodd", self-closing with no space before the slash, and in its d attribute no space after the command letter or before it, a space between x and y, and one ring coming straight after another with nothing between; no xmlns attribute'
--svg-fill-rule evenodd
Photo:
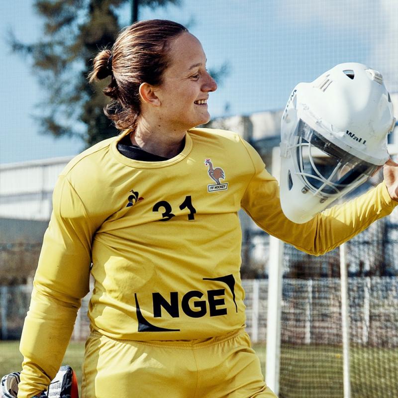
<svg viewBox="0 0 398 398"><path fill-rule="evenodd" d="M103 109L116 128L135 128L140 114L141 83L159 86L169 66L169 42L188 29L166 19L138 21L123 29L111 50L98 53L89 74L90 83L110 76L103 90L111 101Z"/></svg>

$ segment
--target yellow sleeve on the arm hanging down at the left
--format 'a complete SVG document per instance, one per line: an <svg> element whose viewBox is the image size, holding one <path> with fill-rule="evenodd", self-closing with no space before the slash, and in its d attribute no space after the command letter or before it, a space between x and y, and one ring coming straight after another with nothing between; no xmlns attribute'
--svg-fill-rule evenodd
<svg viewBox="0 0 398 398"><path fill-rule="evenodd" d="M20 341L24 359L18 398L47 389L55 377L81 298L89 291L96 227L66 177L60 177L54 190L53 208Z"/></svg>

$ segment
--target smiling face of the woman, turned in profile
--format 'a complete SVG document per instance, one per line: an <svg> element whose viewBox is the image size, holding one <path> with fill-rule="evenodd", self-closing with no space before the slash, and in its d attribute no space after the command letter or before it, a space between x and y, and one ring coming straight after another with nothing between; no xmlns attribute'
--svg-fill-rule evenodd
<svg viewBox="0 0 398 398"><path fill-rule="evenodd" d="M188 130L207 123L209 92L217 84L206 71L206 56L199 40L184 32L170 43L170 66L163 83L155 89L160 117L175 130Z"/></svg>

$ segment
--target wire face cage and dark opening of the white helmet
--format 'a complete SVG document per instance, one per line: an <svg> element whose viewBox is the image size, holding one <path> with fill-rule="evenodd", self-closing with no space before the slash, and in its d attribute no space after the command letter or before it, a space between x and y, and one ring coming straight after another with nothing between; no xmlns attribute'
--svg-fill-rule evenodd
<svg viewBox="0 0 398 398"><path fill-rule="evenodd" d="M313 196L321 197L321 202L322 198L340 197L351 191L381 167L342 150L301 119L290 141L294 173L303 184L301 192L310 191ZM292 185L289 176L289 189Z"/></svg>

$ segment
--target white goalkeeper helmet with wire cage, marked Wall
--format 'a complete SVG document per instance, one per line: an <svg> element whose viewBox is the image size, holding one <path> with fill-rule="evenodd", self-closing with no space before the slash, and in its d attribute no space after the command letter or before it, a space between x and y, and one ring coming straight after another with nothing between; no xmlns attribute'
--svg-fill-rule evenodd
<svg viewBox="0 0 398 398"><path fill-rule="evenodd" d="M293 90L281 122L281 205L297 223L374 175L388 160L395 119L382 75L335 66Z"/></svg>

